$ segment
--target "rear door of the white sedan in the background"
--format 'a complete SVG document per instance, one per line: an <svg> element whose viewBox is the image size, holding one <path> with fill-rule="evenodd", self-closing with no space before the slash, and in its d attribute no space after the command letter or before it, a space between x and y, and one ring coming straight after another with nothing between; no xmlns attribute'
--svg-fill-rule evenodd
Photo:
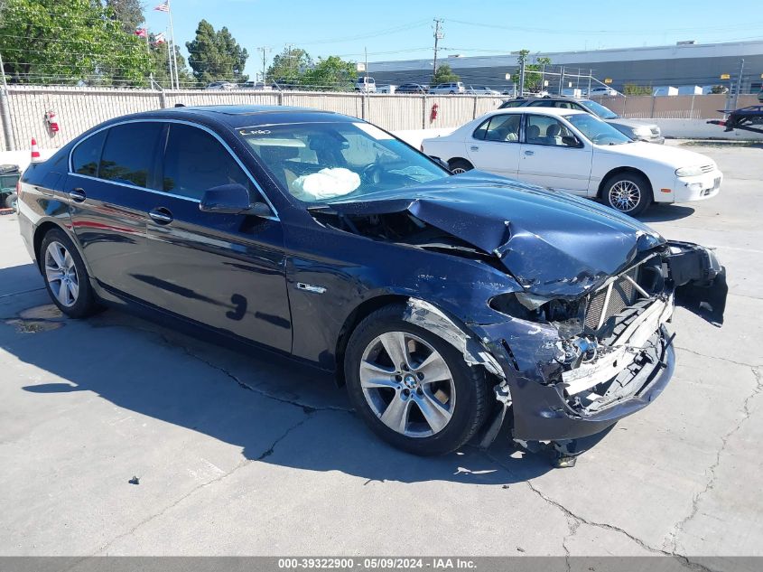
<svg viewBox="0 0 763 572"><path fill-rule="evenodd" d="M519 166L519 124L522 116L506 113L489 117L466 141L467 155L477 169L516 178Z"/></svg>

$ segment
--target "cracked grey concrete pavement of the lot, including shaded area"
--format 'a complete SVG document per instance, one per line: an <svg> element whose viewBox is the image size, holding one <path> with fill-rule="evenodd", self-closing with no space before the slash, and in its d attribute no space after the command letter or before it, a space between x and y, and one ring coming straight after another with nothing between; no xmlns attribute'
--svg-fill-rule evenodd
<svg viewBox="0 0 763 572"><path fill-rule="evenodd" d="M677 308L674 380L572 469L406 455L313 371L62 318L0 217L0 554L763 555L763 149L692 149L721 194L643 218L718 248L726 322Z"/></svg>

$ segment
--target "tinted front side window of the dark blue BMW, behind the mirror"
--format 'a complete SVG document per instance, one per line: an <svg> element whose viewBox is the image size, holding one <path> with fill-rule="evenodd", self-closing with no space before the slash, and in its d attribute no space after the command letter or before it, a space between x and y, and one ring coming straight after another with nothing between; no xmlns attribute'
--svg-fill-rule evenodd
<svg viewBox="0 0 763 572"><path fill-rule="evenodd" d="M203 129L170 124L164 153L163 190L201 199L207 189L239 183L252 194L251 181L228 150Z"/></svg>

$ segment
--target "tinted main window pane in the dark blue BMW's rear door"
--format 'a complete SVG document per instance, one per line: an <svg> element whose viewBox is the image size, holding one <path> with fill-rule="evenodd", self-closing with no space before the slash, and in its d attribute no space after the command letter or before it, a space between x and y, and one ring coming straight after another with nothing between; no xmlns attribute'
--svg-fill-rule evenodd
<svg viewBox="0 0 763 572"><path fill-rule="evenodd" d="M108 129L98 178L151 187L162 124L127 123Z"/></svg>

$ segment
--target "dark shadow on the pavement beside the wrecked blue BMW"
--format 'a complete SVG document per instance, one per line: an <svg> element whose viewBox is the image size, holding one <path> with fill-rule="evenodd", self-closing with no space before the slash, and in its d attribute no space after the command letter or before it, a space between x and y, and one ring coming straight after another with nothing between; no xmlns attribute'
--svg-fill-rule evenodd
<svg viewBox="0 0 763 572"><path fill-rule="evenodd" d="M8 272L0 270L0 283ZM36 368L30 380L39 382L21 380L19 390L45 399L89 392L237 445L249 460L340 471L368 482L507 485L552 468L547 455L516 451L506 429L487 452L467 445L441 457L408 455L368 430L332 377L293 361L255 350L230 352L117 310L88 320L46 315L61 326L23 333L0 323L0 347Z"/></svg>

